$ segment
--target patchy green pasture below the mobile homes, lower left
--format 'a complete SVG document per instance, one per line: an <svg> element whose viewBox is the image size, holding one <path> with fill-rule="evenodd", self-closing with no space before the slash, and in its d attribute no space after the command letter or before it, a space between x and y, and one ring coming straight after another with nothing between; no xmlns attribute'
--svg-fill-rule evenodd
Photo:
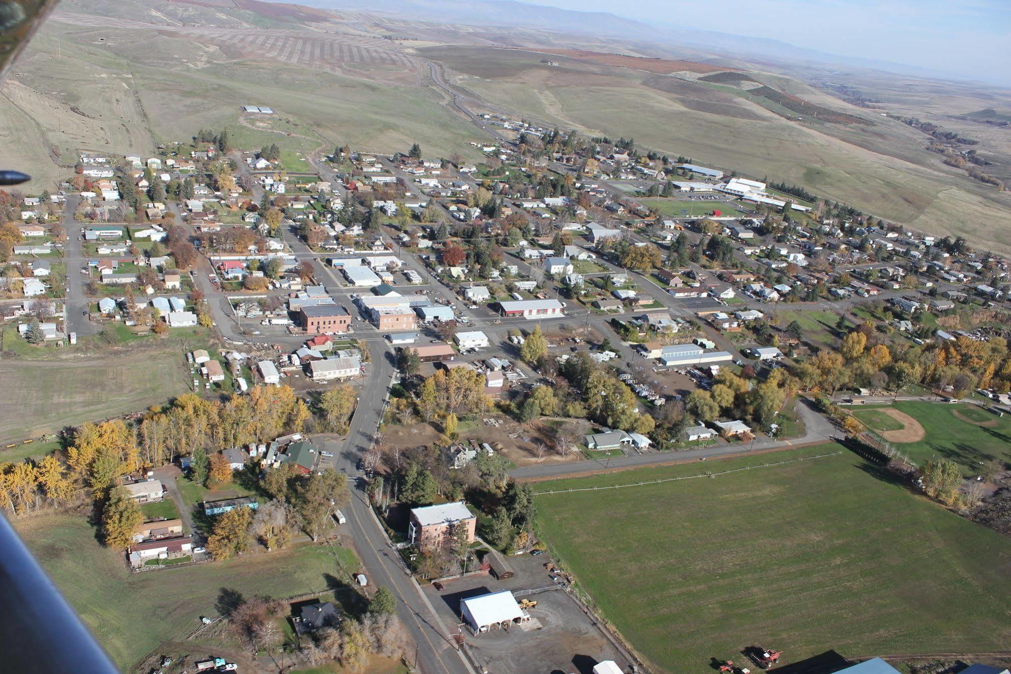
<svg viewBox="0 0 1011 674"><path fill-rule="evenodd" d="M130 574L123 556L99 545L80 516L44 514L15 520L18 532L64 596L123 670L166 641L183 639L201 615L216 615L222 590L287 597L343 585L336 550L289 551Z"/></svg>

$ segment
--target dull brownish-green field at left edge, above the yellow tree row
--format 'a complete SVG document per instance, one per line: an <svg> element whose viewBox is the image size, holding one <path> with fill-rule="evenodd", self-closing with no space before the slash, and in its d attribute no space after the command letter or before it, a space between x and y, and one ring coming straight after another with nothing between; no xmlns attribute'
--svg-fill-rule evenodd
<svg viewBox="0 0 1011 674"><path fill-rule="evenodd" d="M182 350L139 349L92 358L0 361L7 396L0 438L12 441L67 425L135 412L186 389Z"/></svg>

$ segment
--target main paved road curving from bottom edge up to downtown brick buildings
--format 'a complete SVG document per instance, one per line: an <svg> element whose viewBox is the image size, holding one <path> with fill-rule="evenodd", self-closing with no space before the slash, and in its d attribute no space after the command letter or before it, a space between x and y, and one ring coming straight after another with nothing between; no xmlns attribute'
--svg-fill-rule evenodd
<svg viewBox="0 0 1011 674"><path fill-rule="evenodd" d="M334 454L334 466L349 476L351 504L345 510L355 547L365 567L369 584L385 585L396 595L400 620L418 646L418 665L427 674L449 672L471 674L473 670L451 644L435 610L404 569L399 555L393 551L379 522L372 514L365 491L357 484L358 459L371 446L385 408L386 393L393 376L394 356L384 342L369 342L371 373L362 387L355 416L347 440L321 440L325 451ZM410 656L408 654L408 660Z"/></svg>

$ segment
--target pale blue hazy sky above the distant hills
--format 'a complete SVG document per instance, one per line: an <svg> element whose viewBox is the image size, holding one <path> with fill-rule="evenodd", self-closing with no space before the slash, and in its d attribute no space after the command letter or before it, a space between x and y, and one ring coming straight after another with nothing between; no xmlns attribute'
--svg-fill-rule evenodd
<svg viewBox="0 0 1011 674"><path fill-rule="evenodd" d="M527 0L1011 84L1011 0Z"/></svg>

